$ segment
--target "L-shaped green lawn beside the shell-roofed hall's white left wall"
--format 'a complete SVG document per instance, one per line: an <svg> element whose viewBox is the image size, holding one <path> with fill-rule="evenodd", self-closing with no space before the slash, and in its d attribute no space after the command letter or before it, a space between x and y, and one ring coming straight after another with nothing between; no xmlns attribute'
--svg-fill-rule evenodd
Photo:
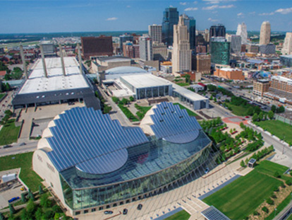
<svg viewBox="0 0 292 220"><path fill-rule="evenodd" d="M0 171L21 168L20 179L35 192L39 190L42 178L32 170L32 154L33 152L0 157Z"/></svg>

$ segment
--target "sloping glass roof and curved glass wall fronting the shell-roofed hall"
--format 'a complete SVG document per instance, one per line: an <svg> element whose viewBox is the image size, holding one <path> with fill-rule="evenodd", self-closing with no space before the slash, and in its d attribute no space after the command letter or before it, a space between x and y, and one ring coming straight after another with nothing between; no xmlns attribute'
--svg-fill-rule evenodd
<svg viewBox="0 0 292 220"><path fill-rule="evenodd" d="M128 148L128 161L111 173L89 174L75 167L60 173L63 195L71 209L85 209L171 190L177 180L204 172L198 170L210 158L212 141L202 129L194 141L174 144L149 137L150 142ZM155 192L154 192L155 191Z"/></svg>

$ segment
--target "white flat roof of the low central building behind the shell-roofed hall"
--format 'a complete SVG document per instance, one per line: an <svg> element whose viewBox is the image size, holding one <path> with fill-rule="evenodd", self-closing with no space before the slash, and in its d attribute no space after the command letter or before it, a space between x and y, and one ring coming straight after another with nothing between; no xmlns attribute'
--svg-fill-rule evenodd
<svg viewBox="0 0 292 220"><path fill-rule="evenodd" d="M147 88L154 86L169 86L172 83L152 74L139 74L130 76L121 76L121 79L127 81L135 88Z"/></svg>

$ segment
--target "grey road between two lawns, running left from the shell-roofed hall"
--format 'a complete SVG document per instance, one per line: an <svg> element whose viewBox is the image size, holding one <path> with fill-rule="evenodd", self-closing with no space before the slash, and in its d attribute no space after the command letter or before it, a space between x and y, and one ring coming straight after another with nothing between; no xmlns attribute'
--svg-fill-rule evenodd
<svg viewBox="0 0 292 220"><path fill-rule="evenodd" d="M30 141L27 142L26 145L20 146L20 144L13 143L11 144L12 147L3 149L3 147L0 148L0 157L1 156L8 156L13 154L23 154L26 152L32 152L37 149L37 143L38 141Z"/></svg>

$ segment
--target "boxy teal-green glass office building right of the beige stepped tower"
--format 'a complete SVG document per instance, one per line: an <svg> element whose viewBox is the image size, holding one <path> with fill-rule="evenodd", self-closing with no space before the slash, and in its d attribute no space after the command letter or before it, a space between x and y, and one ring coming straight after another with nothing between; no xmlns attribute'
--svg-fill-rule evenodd
<svg viewBox="0 0 292 220"><path fill-rule="evenodd" d="M230 42L226 42L224 37L212 37L210 39L210 54L213 64L229 65Z"/></svg>

